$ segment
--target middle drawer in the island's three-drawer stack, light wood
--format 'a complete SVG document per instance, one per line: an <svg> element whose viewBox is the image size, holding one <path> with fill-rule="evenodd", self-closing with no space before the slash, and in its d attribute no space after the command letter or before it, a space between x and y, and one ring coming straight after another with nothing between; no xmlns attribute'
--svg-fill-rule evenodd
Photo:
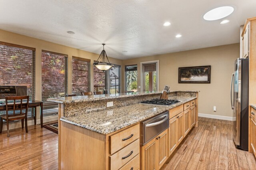
<svg viewBox="0 0 256 170"><path fill-rule="evenodd" d="M110 157L110 170L117 170L140 153L140 140L137 139Z"/></svg>

